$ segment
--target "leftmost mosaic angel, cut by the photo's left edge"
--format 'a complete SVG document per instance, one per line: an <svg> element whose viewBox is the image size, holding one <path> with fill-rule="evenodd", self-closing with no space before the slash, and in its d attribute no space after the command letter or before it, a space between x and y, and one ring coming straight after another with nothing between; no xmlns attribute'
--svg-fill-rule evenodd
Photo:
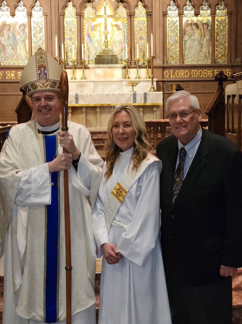
<svg viewBox="0 0 242 324"><path fill-rule="evenodd" d="M0 61L10 61L16 58L17 41L13 30L6 21L0 25Z"/></svg>

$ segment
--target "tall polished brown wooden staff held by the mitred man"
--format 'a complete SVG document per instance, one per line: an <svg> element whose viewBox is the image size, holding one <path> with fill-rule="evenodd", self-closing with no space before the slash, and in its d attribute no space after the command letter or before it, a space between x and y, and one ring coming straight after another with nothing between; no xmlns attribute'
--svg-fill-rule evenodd
<svg viewBox="0 0 242 324"><path fill-rule="evenodd" d="M61 117L62 132L68 132L67 112L68 112L68 77L66 71L62 71L60 79L60 97L61 97ZM66 153L63 147L63 153ZM71 228L70 228L70 204L68 187L68 170L64 170L64 196L65 196L65 236L66 236L66 324L71 324Z"/></svg>

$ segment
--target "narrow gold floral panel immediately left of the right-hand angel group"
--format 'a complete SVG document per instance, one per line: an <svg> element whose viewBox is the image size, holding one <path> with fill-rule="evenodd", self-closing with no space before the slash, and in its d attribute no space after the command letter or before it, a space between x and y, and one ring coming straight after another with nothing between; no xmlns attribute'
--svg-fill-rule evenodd
<svg viewBox="0 0 242 324"><path fill-rule="evenodd" d="M167 60L168 64L178 64L179 60L179 17L174 1L167 8Z"/></svg>

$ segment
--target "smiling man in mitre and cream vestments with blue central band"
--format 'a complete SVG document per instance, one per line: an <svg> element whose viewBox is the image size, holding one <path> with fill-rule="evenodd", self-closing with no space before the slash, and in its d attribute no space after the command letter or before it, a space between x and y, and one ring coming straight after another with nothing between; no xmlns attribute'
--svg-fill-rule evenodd
<svg viewBox="0 0 242 324"><path fill-rule="evenodd" d="M66 169L72 323L96 323L91 205L103 161L84 126L68 122L69 133L60 131L61 71L42 49L30 58L20 83L31 97L36 118L10 129L0 155L1 238L7 231L3 324L66 323Z"/></svg>

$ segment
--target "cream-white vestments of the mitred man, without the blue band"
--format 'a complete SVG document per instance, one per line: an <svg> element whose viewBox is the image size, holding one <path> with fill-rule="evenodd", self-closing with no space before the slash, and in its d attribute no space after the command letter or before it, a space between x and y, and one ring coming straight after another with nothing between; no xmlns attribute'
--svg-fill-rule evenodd
<svg viewBox="0 0 242 324"><path fill-rule="evenodd" d="M103 161L96 152L86 127L73 122L69 122L68 127L76 147L81 151L77 172L73 166L68 172L73 267L72 322L94 324L96 246L91 207L95 203L102 178ZM47 282L45 276L48 275L46 224L48 219L51 219L46 218L48 216L46 210L51 203L53 190L48 163L44 161L47 154L45 152L47 145L45 146L44 142L47 143L48 140L46 136L36 132L35 121L19 124L11 128L0 155L2 237L7 229L3 324L45 322L44 300L46 290L49 289L45 284ZM58 145L55 135L54 140ZM60 145L56 153L56 155L62 153ZM59 197L56 308L57 321L65 323L64 180L63 171L56 174L58 183L54 183L54 186L58 186ZM51 257L49 259L52 261Z"/></svg>

